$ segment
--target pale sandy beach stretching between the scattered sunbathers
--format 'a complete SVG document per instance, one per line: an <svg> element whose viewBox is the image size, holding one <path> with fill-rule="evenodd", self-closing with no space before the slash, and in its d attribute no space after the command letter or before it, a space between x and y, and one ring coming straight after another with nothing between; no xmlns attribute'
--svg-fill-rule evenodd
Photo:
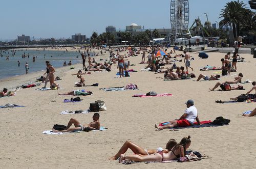
<svg viewBox="0 0 256 169"><path fill-rule="evenodd" d="M165 49L165 48L164 48ZM168 48L168 52L171 48ZM93 50L92 50L93 51ZM99 52L95 49L95 52ZM177 51L177 54L182 53ZM127 54L127 51L121 52ZM191 53L195 60L191 61L191 67L198 77L200 73L216 75L221 71L200 71L200 68L210 65L221 67L221 58L224 53L208 53L208 59L200 59L198 53ZM216 82L233 80L240 72L244 77L242 81L249 79L255 81L255 59L251 54L240 54L245 62L238 62L238 72L229 76L222 76L215 81L188 80L164 81L164 74L154 72L141 72L146 64L141 62L141 55L127 58L131 64L129 69L138 72L130 73L129 78L112 78L118 71L117 64L112 65L111 72L91 72L83 75L86 85L99 83L98 87L74 87L79 81L72 73L82 69L82 64L57 68L55 77L62 80L56 81L60 85L59 90L36 91L35 88L23 89L16 92L16 96L0 98L0 105L13 103L25 107L0 108L0 163L1 168L254 168L256 165L255 147L255 118L242 117L244 111L255 108L255 103L228 103L219 104L215 100L228 101L230 97L237 97L252 88L251 83L243 84L245 90L213 91L208 88L215 86ZM147 55L147 54L146 54ZM172 57L174 54L172 54ZM79 56L80 57L80 56ZM95 57L109 59L109 52L103 56ZM180 58L181 59L181 58ZM176 62L177 66L184 66L182 62ZM102 63L103 61L100 61ZM88 59L86 60L88 66ZM170 67L167 65L165 67ZM44 72L29 73L28 75L15 76L0 80L0 89L4 87L15 89L24 83L34 82ZM221 74L221 73L219 73ZM99 88L121 87L128 83L138 85L139 90L105 92ZM49 83L48 83L49 86ZM236 85L231 85L236 86ZM41 85L40 87L43 87ZM86 89L93 95L81 96L81 102L63 103L64 99L74 96L63 96L58 93L69 92L76 89ZM171 93L170 97L133 98L135 94L145 94L150 91L157 93ZM198 116L201 121L215 120L223 116L230 119L229 125L204 128L184 128L178 131L155 131L155 124L180 118L186 109L188 99L195 101ZM108 127L104 131L92 131L82 133L66 133L61 135L42 134L44 130L51 130L54 124L67 125L70 118L75 118L83 124L92 121L93 112L89 114L60 115L63 110L88 109L90 103L103 100L106 111L100 111L101 126ZM174 138L180 142L182 137L191 136L189 149L199 151L212 158L201 161L184 163L138 163L123 165L118 161L110 161L107 158L115 155L125 140L142 146L144 149L165 148L167 141ZM126 154L131 154L128 151Z"/></svg>

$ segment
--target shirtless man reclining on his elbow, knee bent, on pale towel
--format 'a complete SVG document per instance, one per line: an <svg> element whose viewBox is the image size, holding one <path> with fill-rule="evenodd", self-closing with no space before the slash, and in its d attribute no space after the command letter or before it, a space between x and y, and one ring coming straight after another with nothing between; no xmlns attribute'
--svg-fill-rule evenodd
<svg viewBox="0 0 256 169"><path fill-rule="evenodd" d="M70 128L72 124L74 124L75 127ZM71 118L65 130L58 131L58 130L52 129L52 131L53 132L70 132L70 131L90 131L90 130L99 130L99 129L100 129L99 114L95 112L95 114L93 115L93 122L89 124L82 125L76 119Z"/></svg>

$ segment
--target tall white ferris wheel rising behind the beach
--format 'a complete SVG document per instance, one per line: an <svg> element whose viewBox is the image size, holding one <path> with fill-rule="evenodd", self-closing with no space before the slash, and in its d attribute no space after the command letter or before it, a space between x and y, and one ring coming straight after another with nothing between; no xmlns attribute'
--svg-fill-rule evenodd
<svg viewBox="0 0 256 169"><path fill-rule="evenodd" d="M174 34L184 34L189 21L188 0L170 1L170 25Z"/></svg>

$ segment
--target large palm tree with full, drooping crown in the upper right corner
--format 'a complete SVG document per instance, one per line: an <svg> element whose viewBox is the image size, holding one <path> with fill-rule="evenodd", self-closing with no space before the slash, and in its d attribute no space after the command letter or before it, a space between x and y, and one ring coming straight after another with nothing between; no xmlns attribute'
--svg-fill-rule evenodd
<svg viewBox="0 0 256 169"><path fill-rule="evenodd" d="M250 10L243 2L231 1L221 10L219 26L232 26L234 38L240 34L240 25L245 23L245 18L249 17Z"/></svg>

